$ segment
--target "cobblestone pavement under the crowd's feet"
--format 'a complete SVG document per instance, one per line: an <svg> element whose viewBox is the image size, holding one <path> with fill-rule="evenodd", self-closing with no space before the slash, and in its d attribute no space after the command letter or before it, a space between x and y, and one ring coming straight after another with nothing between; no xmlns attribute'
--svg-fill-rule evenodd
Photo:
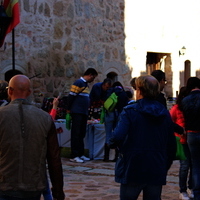
<svg viewBox="0 0 200 200"><path fill-rule="evenodd" d="M114 181L113 162L92 160L72 163L62 158L65 200L119 200L119 184ZM178 200L179 162L174 161L163 187L162 200ZM138 198L142 200L142 195Z"/></svg>

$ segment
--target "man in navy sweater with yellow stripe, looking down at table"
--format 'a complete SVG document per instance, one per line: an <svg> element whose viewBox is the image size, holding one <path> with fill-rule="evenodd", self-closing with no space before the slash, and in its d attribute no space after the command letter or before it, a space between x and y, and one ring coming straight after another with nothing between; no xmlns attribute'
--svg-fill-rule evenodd
<svg viewBox="0 0 200 200"><path fill-rule="evenodd" d="M94 81L98 73L94 68L88 68L83 77L77 79L70 89L67 113L71 114L71 159L72 162L83 163L90 160L84 156L84 137L90 105L88 83Z"/></svg>

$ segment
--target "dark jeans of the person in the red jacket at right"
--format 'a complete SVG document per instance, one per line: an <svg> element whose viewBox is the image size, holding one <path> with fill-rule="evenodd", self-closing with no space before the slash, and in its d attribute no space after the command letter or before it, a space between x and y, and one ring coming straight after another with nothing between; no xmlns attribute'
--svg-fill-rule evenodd
<svg viewBox="0 0 200 200"><path fill-rule="evenodd" d="M183 144L186 160L180 160L179 187L180 192L186 192L187 188L192 189L192 161L188 144ZM189 174L189 178L188 178ZM188 181L187 181L188 180Z"/></svg>

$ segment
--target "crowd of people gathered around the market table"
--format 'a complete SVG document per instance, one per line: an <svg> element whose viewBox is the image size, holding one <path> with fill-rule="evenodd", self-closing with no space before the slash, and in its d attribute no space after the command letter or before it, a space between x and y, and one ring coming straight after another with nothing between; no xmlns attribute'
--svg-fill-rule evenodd
<svg viewBox="0 0 200 200"><path fill-rule="evenodd" d="M134 77L127 90L119 81L105 78L89 92L88 83L98 76L88 68L71 85L67 113L71 125L71 162L83 163L88 117L100 118L104 110L106 133L104 162L114 161L115 181L120 183L120 200L160 200L162 186L176 157L180 138L186 156L180 160L179 199L200 200L200 79L190 77L180 88L175 105L167 109L163 93L165 73ZM117 95L112 111L105 101ZM54 124L59 97L50 115L29 103L31 83L16 75L9 83L0 81L0 199L39 200L43 194L64 200L60 148ZM96 112L98 111L98 112ZM115 158L110 160L110 149ZM46 163L52 188L49 189Z"/></svg>

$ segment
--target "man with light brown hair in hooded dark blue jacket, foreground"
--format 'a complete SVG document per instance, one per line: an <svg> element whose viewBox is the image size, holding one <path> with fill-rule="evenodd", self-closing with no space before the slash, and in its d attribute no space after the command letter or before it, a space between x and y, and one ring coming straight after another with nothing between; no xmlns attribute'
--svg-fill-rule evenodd
<svg viewBox="0 0 200 200"><path fill-rule="evenodd" d="M115 180L120 199L160 200L176 152L173 123L167 109L156 101L159 83L153 76L136 79L137 102L124 108L109 145L119 148Z"/></svg>

